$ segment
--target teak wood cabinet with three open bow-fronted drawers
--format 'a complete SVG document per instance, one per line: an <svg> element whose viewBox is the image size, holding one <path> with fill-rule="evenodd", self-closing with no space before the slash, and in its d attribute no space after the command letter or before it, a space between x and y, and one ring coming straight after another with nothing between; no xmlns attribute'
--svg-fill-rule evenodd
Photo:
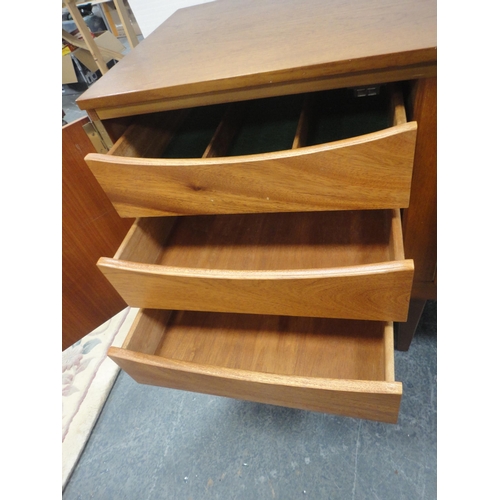
<svg viewBox="0 0 500 500"><path fill-rule="evenodd" d="M168 19L78 100L102 140L86 162L136 218L98 262L141 308L110 357L142 383L396 422L393 322L435 286L433 249L405 248L421 206L432 224L435 75L430 1Z"/></svg>

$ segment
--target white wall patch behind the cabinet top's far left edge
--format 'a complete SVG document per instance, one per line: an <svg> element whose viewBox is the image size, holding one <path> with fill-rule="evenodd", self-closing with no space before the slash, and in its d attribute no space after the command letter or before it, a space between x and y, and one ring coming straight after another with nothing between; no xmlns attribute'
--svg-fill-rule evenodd
<svg viewBox="0 0 500 500"><path fill-rule="evenodd" d="M176 10L214 0L128 0L141 33L146 38Z"/></svg>

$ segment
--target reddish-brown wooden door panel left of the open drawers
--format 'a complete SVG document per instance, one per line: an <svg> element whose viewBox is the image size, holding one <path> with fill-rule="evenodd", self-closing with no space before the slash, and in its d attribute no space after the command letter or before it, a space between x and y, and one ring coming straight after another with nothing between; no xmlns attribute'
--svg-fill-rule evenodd
<svg viewBox="0 0 500 500"><path fill-rule="evenodd" d="M62 129L62 349L127 305L96 266L113 256L132 224L121 219L84 161L95 152L88 118Z"/></svg>

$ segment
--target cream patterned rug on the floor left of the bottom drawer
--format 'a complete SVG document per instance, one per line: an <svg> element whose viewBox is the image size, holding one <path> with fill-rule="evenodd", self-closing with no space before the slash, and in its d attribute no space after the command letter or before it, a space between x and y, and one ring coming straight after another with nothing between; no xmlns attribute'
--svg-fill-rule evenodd
<svg viewBox="0 0 500 500"><path fill-rule="evenodd" d="M62 353L62 487L66 485L118 375L107 357L138 309L126 308Z"/></svg>

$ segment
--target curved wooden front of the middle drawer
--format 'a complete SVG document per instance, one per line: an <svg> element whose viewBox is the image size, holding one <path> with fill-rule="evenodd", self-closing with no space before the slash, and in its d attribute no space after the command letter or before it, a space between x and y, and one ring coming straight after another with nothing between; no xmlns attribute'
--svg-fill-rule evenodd
<svg viewBox="0 0 500 500"><path fill-rule="evenodd" d="M323 272L200 272L101 259L132 307L406 321L413 263ZM300 275L302 274L302 276Z"/></svg>

